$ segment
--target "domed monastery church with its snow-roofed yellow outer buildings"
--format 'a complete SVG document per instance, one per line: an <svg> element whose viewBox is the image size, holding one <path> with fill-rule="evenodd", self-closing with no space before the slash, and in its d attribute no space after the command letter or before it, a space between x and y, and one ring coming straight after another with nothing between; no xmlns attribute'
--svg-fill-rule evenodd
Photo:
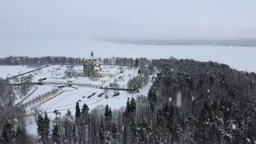
<svg viewBox="0 0 256 144"><path fill-rule="evenodd" d="M117 67L107 67L98 63L97 58L94 57L94 52L91 51L89 59L84 61L83 69L77 70L77 78L57 79L48 77L45 79L33 79L32 84L36 85L39 82L41 85L102 88L105 83L114 79L118 74L120 74L120 70ZM93 81L90 77L98 77L99 79Z"/></svg>

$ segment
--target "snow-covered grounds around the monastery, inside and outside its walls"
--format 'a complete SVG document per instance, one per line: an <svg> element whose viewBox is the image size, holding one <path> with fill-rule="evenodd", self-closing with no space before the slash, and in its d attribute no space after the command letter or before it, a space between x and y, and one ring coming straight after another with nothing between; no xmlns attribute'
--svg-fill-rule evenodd
<svg viewBox="0 0 256 144"><path fill-rule="evenodd" d="M10 68L10 70L11 70L12 67L13 66L6 66L5 69ZM125 69L125 68L126 67L123 67L123 69ZM40 69L37 71L33 71L30 74L33 75L32 81L34 81L34 82L38 81L39 79L45 78L45 77L47 77L47 79L66 79L66 76L65 76L66 69L67 69L67 65L51 65L49 67L46 67L46 68L43 68L43 69ZM82 70L83 66L82 65L74 66L74 69ZM112 70L112 69L118 69L118 66L106 65L105 70ZM33 70L33 69L23 68L22 70L24 72L26 72L26 71ZM137 74L138 74L138 68L127 68L124 70L124 73L120 73L114 79L111 79L109 82L107 82L106 85L109 85L109 83L114 82L116 79L116 82L120 85L121 88L126 88L126 83L132 77L137 76ZM26 75L28 75L28 74L26 74ZM21 79L21 76L19 76L18 79ZM97 81L101 81L103 79L104 79L104 77L101 77ZM91 79L89 77L78 76L76 81L90 82ZM152 83L149 83L146 87L142 88L141 92L139 92L139 93L132 94L127 91L119 91L120 95L118 95L116 97L112 97L114 94L114 91L110 90L108 99L105 98L105 95L102 95L102 97L97 97L98 94L103 93L103 89L90 88L90 87L78 87L78 89L75 91L64 92L64 93L58 95L57 97L47 101L46 103L40 105L39 109L41 111L48 112L49 117L52 119L55 116L53 113L53 111L55 109L59 110L62 113L62 116L65 115L65 113L68 109L71 110L72 114L74 115L75 103L78 100L81 100L81 101L79 101L80 107L82 107L83 104L86 103L90 109L94 109L98 105L107 105L108 104L110 107L112 107L112 109L119 109L120 107L126 105L127 98L137 97L137 95L147 95L151 84ZM42 94L52 91L54 88L54 85L42 85L42 86L36 85L35 87L37 87L37 90L32 95L30 95L30 97L28 97L23 103L26 103L26 102L38 97L39 95L42 95ZM34 87L32 88L32 90L33 89L34 89ZM64 89L73 89L73 88L65 87L65 88L63 88L63 90ZM91 98L87 98L92 93L96 93L96 94L94 96L92 96ZM82 98L83 96L85 96L84 99ZM31 114L32 111L27 109L27 113ZM29 133L35 134L37 132L36 128L37 128L37 125L36 125L36 122L34 121L33 116L27 117L27 129L28 129Z"/></svg>

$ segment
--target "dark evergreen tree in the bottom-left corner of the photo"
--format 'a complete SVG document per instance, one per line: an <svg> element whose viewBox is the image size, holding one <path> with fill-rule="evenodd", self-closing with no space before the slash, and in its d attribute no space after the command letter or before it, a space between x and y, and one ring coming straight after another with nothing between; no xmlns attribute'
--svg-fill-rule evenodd
<svg viewBox="0 0 256 144"><path fill-rule="evenodd" d="M10 143L13 141L14 138L14 130L13 130L13 125L5 121L2 126L2 134L1 134L1 141L3 144L5 143Z"/></svg>

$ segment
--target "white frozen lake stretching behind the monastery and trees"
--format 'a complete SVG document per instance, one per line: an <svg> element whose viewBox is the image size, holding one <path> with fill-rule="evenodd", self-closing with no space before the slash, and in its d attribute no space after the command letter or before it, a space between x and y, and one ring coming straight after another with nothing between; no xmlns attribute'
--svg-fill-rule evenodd
<svg viewBox="0 0 256 144"><path fill-rule="evenodd" d="M193 58L198 61L217 61L238 70L256 71L256 47L233 46L172 46L114 44L83 39L1 39L0 57L7 56L70 56L89 57L147 57Z"/></svg>

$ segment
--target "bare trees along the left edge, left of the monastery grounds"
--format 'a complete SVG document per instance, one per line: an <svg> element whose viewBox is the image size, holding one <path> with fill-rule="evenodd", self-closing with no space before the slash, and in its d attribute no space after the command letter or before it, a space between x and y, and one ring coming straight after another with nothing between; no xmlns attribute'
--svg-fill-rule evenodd
<svg viewBox="0 0 256 144"><path fill-rule="evenodd" d="M27 81L27 78L24 79ZM8 85L9 81L0 80L0 143L34 143L36 137L28 135L26 130L26 111L15 106L16 95L24 95L28 85ZM20 95L20 93L22 93Z"/></svg>

